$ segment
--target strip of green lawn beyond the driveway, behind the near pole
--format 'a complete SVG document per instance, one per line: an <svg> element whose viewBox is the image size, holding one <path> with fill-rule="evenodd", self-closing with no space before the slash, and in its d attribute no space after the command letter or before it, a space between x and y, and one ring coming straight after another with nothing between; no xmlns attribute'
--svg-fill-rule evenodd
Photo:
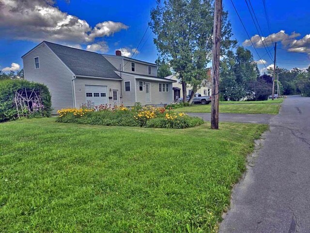
<svg viewBox="0 0 310 233"><path fill-rule="evenodd" d="M267 100L269 101L269 100ZM244 101L220 103L219 113L244 113L244 114L278 114L281 107L280 103L248 103ZM194 104L189 107L178 108L176 112L183 113L211 113L211 104L201 105Z"/></svg>

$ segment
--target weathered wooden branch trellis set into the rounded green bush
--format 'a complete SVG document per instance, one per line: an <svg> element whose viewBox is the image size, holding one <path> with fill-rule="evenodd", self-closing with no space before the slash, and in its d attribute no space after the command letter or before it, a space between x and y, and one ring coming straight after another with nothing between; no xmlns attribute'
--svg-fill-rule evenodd
<svg viewBox="0 0 310 233"><path fill-rule="evenodd" d="M31 114L34 111L33 105L38 106L39 110L42 110L41 98L38 97L34 89L27 91L26 88L23 88L16 91L14 102L18 118Z"/></svg>

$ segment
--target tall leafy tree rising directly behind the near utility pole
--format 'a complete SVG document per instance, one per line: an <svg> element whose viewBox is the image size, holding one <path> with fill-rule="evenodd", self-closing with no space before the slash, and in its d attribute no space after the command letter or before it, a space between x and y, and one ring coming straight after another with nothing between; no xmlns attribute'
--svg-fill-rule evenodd
<svg viewBox="0 0 310 233"><path fill-rule="evenodd" d="M206 65L212 55L213 14L213 0L166 0L163 6L158 5L151 11L154 43L160 56L178 73L184 101L187 83L192 86L191 101L202 80L207 78ZM222 13L223 52L236 43L231 40L227 15Z"/></svg>

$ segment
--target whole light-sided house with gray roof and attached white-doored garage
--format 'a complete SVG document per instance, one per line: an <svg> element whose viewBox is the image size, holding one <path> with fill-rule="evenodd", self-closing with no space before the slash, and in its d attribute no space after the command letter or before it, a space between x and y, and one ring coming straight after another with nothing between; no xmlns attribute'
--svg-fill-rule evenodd
<svg viewBox="0 0 310 233"><path fill-rule="evenodd" d="M22 56L28 81L47 85L53 113L87 101L133 106L173 101L171 79L157 78L157 65L43 41Z"/></svg>

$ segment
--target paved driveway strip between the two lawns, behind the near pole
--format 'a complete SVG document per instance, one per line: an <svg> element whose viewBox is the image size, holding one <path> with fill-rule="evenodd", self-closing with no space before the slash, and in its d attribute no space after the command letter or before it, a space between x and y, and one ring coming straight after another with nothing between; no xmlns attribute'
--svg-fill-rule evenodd
<svg viewBox="0 0 310 233"><path fill-rule="evenodd" d="M199 116L203 120L210 121L211 113L188 113L190 116ZM259 123L269 124L270 120L275 115L270 114L234 114L234 113L220 113L219 121L241 122L241 123Z"/></svg>

